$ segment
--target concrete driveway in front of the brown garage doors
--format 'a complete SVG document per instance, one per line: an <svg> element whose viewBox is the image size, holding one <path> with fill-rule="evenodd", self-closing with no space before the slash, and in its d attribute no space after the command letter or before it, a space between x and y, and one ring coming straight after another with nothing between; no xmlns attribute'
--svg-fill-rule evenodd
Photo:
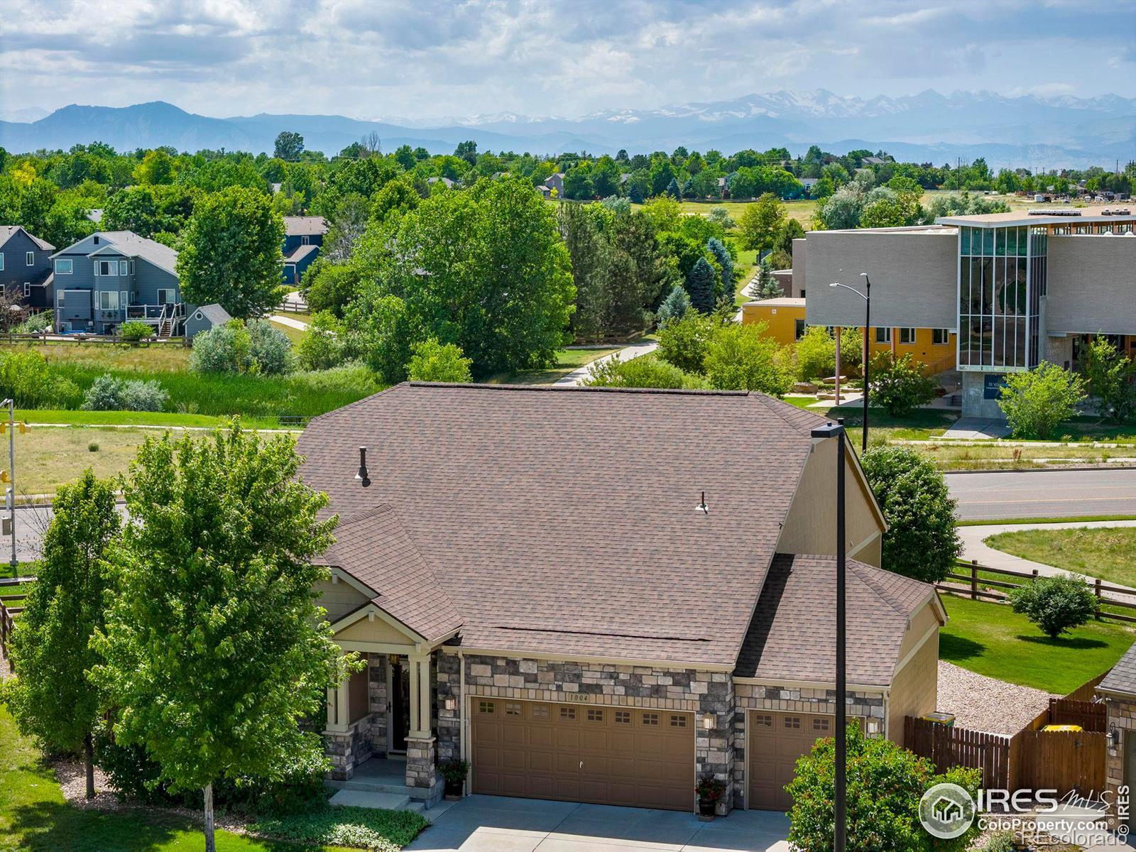
<svg viewBox="0 0 1136 852"><path fill-rule="evenodd" d="M425 816L434 824L407 850L788 852L788 818L771 811L734 811L700 822L677 811L473 795Z"/></svg>

